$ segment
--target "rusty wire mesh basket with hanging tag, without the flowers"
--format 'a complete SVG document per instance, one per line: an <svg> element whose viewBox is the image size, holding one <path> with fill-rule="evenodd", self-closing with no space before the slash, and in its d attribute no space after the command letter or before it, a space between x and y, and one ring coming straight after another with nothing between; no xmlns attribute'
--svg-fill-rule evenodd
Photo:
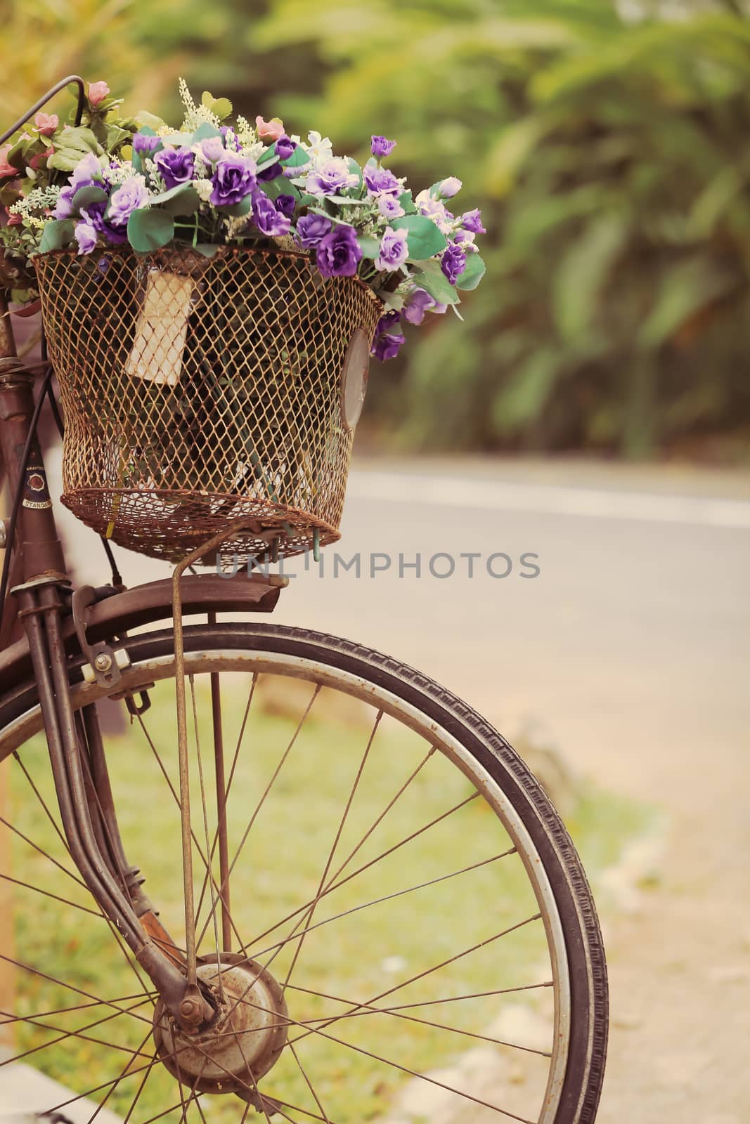
<svg viewBox="0 0 750 1124"><path fill-rule="evenodd" d="M304 254L127 247L35 259L63 502L174 561L245 517L244 561L338 538L381 305Z"/></svg>

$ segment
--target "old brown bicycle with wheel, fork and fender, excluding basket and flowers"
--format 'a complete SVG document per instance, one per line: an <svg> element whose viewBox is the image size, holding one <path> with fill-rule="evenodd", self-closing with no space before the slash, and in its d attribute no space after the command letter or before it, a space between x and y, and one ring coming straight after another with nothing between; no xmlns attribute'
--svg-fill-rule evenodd
<svg viewBox="0 0 750 1124"><path fill-rule="evenodd" d="M28 992L3 1064L63 1077L51 1111L94 1097L90 1121L410 1120L422 1089L445 1120L590 1124L604 950L535 778L397 660L255 624L286 579L187 573L242 522L134 589L102 540L109 583L73 589L36 437L52 368L35 401L0 312L0 761L34 796L1 819L24 856L2 878L44 922L0 950Z"/></svg>

